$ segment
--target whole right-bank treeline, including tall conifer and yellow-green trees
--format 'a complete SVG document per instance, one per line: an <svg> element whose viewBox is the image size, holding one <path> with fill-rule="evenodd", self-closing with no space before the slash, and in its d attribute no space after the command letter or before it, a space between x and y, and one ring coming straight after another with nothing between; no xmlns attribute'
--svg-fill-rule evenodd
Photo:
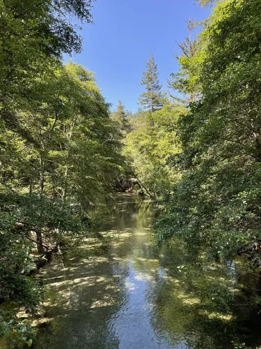
<svg viewBox="0 0 261 349"><path fill-rule="evenodd" d="M160 242L178 236L193 251L244 254L254 265L261 248L260 13L259 0L218 1L196 38L189 20L166 96L151 56L145 111L131 118L125 148L162 199Z"/></svg>

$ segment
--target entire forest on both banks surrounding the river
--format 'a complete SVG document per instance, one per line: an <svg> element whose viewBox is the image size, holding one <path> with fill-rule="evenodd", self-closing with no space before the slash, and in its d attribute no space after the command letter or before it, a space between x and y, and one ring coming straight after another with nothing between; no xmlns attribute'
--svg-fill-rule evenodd
<svg viewBox="0 0 261 349"><path fill-rule="evenodd" d="M188 19L168 91L148 52L136 113L124 101L112 110L92 71L63 62L81 52L79 27L93 22L93 2L0 0L0 303L8 304L0 337L10 337L8 348L35 343L37 331L18 315L42 302L35 272L99 238L118 192L156 203L159 246L180 239L219 262L244 256L260 273L260 0L198 0L211 14Z"/></svg>

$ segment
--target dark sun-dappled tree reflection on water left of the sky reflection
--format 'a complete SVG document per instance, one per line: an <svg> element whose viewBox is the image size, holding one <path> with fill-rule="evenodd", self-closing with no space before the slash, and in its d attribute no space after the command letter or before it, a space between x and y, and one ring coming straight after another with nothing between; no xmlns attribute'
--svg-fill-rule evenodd
<svg viewBox="0 0 261 349"><path fill-rule="evenodd" d="M125 296L112 265L108 255L49 271L45 316L53 320L40 329L36 348L118 348L108 321Z"/></svg>

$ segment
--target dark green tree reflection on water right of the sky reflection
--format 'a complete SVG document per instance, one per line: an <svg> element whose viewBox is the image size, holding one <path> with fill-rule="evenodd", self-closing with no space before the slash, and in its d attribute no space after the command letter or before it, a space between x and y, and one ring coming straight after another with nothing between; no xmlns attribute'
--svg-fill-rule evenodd
<svg viewBox="0 0 261 349"><path fill-rule="evenodd" d="M234 348L231 341L260 345L251 325L258 311L245 305L251 300L239 292L237 278L225 265L187 255L174 245L164 251L160 267L166 275L153 295L155 330L167 331L174 341L185 339L189 348Z"/></svg>

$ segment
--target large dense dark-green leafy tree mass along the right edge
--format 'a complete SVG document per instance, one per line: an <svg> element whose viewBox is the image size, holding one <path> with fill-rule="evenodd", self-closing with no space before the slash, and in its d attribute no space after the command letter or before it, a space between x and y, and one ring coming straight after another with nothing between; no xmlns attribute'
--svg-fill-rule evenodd
<svg viewBox="0 0 261 349"><path fill-rule="evenodd" d="M223 1L198 39L184 84L200 98L180 118L182 172L159 222L214 255L258 253L260 241L260 1ZM193 66L196 62L197 69Z"/></svg>

